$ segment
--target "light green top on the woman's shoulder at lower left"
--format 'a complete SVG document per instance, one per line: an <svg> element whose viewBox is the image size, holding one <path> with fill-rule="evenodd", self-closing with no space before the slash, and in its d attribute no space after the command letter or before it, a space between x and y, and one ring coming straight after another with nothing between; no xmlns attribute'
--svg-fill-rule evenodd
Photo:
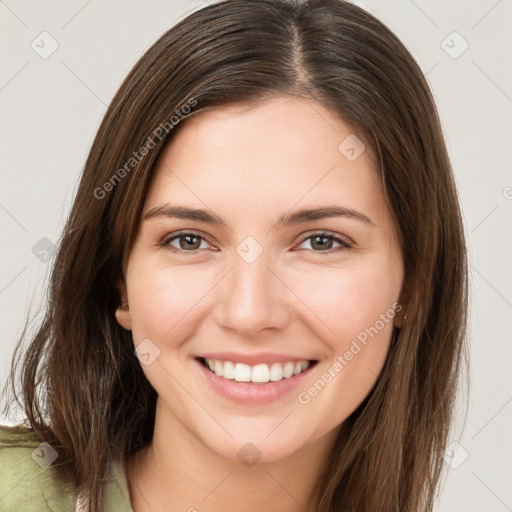
<svg viewBox="0 0 512 512"><path fill-rule="evenodd" d="M52 471L50 464L57 457L33 430L0 425L0 511L80 510L76 490ZM104 512L134 512L122 464L114 465L113 477L105 485Z"/></svg>

